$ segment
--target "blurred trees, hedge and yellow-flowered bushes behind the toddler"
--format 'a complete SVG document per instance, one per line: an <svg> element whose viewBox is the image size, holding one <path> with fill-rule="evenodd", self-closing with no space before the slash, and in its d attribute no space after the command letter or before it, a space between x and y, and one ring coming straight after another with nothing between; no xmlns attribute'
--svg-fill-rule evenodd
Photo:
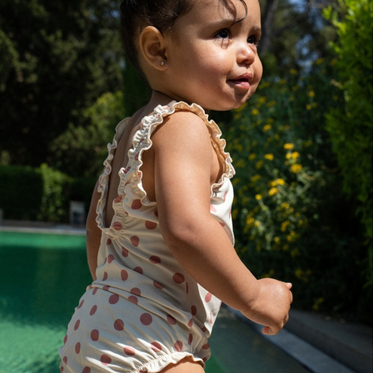
<svg viewBox="0 0 373 373"><path fill-rule="evenodd" d="M262 0L264 78L213 112L233 158L236 249L294 305L372 324L372 1ZM0 3L0 208L68 222L106 144L150 90L126 64L119 1Z"/></svg>

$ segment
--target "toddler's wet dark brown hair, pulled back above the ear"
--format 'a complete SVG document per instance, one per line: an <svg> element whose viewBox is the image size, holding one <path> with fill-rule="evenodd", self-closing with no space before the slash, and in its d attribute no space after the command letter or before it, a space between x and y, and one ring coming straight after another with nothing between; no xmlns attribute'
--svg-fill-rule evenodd
<svg viewBox="0 0 373 373"><path fill-rule="evenodd" d="M171 31L176 19L188 13L195 0L125 0L120 5L120 28L124 50L128 61L138 72L141 69L138 63L135 36L142 26L154 26L160 32ZM198 0L197 0L198 1ZM221 0L225 6L232 3L231 0ZM247 6L244 0L247 14ZM232 4L230 4L232 5ZM245 15L246 17L246 15Z"/></svg>

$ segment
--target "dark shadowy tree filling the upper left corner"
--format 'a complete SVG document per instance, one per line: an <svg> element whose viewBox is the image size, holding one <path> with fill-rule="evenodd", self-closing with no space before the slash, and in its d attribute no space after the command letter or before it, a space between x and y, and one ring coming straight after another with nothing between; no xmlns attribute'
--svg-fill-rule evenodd
<svg viewBox="0 0 373 373"><path fill-rule="evenodd" d="M1 157L39 166L49 144L84 125L81 110L121 86L117 4L110 0L0 3Z"/></svg>

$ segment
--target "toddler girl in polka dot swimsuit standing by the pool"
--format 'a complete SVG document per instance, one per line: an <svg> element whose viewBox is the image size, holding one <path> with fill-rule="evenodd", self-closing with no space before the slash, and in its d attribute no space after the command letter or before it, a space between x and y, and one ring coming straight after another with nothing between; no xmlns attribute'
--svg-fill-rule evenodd
<svg viewBox="0 0 373 373"><path fill-rule="evenodd" d="M128 59L153 90L117 125L87 219L93 283L61 372L201 373L222 300L276 334L291 284L257 280L233 248L234 174L206 111L256 90L257 0L126 0Z"/></svg>

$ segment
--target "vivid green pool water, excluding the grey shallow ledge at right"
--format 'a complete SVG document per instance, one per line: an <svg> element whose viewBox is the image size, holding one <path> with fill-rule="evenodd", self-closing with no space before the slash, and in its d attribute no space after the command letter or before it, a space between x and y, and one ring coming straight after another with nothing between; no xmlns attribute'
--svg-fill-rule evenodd
<svg viewBox="0 0 373 373"><path fill-rule="evenodd" d="M58 348L91 282L85 237L0 232L0 373L59 372ZM207 373L227 373L210 359Z"/></svg>

